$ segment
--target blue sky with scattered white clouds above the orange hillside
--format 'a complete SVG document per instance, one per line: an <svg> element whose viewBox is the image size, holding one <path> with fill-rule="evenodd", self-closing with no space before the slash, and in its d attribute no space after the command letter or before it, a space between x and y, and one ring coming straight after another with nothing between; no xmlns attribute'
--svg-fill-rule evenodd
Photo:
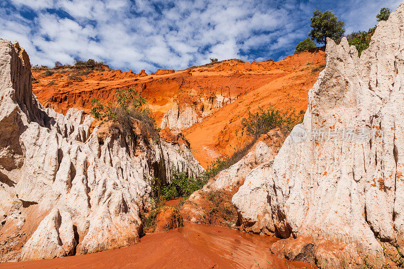
<svg viewBox="0 0 404 269"><path fill-rule="evenodd" d="M281 60L307 37L316 9L346 33L368 30L400 0L0 0L0 38L18 40L33 65L74 59L147 73L209 58Z"/></svg>

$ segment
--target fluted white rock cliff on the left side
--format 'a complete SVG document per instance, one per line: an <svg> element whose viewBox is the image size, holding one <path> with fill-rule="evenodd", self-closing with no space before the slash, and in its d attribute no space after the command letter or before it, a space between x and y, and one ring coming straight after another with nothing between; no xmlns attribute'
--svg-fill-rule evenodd
<svg viewBox="0 0 404 269"><path fill-rule="evenodd" d="M90 132L92 122L41 106L25 50L0 39L0 261L134 244L149 179L203 171L186 143L106 125Z"/></svg>

